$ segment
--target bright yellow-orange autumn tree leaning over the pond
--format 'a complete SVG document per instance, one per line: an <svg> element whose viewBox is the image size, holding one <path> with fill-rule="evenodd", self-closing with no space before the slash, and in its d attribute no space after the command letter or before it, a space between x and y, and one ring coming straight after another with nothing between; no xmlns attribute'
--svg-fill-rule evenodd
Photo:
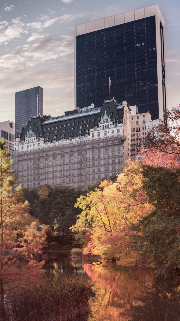
<svg viewBox="0 0 180 321"><path fill-rule="evenodd" d="M137 255L128 236L130 226L151 208L143 192L140 161L127 161L115 183L104 180L95 192L81 195L75 206L82 212L72 231L85 243L85 254L136 264Z"/></svg>

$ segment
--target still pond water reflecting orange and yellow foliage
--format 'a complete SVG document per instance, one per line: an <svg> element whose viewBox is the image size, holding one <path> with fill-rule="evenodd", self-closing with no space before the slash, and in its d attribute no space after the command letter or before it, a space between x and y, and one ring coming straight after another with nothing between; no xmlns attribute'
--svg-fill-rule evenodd
<svg viewBox="0 0 180 321"><path fill-rule="evenodd" d="M44 252L45 269L88 275L94 283L88 321L180 321L180 282L164 281L149 267L92 265L67 251Z"/></svg>

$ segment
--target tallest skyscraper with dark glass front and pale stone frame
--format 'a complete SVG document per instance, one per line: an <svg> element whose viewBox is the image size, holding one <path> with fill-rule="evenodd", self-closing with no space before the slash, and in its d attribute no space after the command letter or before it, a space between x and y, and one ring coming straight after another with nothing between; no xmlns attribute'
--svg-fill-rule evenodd
<svg viewBox="0 0 180 321"><path fill-rule="evenodd" d="M152 119L166 107L164 19L157 4L75 26L75 106L125 98Z"/></svg>

